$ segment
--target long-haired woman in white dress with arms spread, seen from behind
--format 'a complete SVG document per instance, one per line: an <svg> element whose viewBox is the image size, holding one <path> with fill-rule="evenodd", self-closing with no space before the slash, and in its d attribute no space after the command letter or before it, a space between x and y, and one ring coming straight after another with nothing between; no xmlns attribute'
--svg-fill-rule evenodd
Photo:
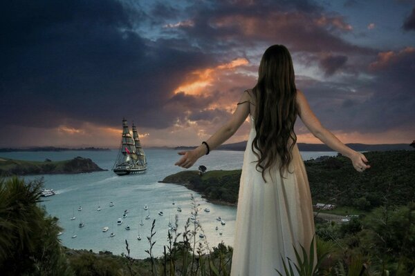
<svg viewBox="0 0 415 276"><path fill-rule="evenodd" d="M295 88L293 61L282 45L264 52L257 85L243 92L231 119L198 148L178 152L183 157L175 165L190 168L228 140L248 115L251 130L243 156L231 275L278 275L277 270L284 273L282 259L296 263L294 248L301 252L302 245L308 251L315 234L308 178L293 131L297 115L315 137L349 157L358 172L370 166L365 155L320 124Z"/></svg>

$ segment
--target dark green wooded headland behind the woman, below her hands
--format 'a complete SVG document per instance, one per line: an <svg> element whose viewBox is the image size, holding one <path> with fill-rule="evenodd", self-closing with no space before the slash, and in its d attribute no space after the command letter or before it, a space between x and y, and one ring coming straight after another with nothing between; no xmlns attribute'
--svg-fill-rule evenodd
<svg viewBox="0 0 415 276"><path fill-rule="evenodd" d="M371 151L365 157L371 165L365 172L357 172L340 154L304 161L313 204L367 211L385 201L397 205L415 201L415 150ZM241 170L208 170L203 175L183 170L160 182L183 185L215 204L236 206L240 177Z"/></svg>

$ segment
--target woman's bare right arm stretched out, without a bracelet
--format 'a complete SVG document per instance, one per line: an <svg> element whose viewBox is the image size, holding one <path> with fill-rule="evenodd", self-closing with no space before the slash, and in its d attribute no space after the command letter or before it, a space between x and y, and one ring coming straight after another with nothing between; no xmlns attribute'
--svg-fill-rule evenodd
<svg viewBox="0 0 415 276"><path fill-rule="evenodd" d="M299 90L297 90L297 103L299 105L299 117L315 137L320 139L320 141L322 141L333 150L340 152L346 157L349 157L353 167L359 172L370 168L370 165L365 164L365 162L368 162L365 155L360 152L356 152L355 150L352 150L348 146L344 145L342 141L333 135L333 133L322 126L308 105L306 97L304 97L304 94Z"/></svg>

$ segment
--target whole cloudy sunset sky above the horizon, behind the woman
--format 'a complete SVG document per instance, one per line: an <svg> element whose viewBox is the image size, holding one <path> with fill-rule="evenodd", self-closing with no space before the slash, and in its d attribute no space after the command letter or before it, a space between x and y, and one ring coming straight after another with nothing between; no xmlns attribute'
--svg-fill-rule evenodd
<svg viewBox="0 0 415 276"><path fill-rule="evenodd" d="M2 1L0 147L194 146L284 44L344 143L415 139L415 1ZM248 120L226 143L248 138ZM321 143L298 118L297 142Z"/></svg>

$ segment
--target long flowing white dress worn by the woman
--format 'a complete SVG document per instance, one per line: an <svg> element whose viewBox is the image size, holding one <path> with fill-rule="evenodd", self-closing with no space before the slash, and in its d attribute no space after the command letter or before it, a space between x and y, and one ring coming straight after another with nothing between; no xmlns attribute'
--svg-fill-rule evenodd
<svg viewBox="0 0 415 276"><path fill-rule="evenodd" d="M251 144L255 138L254 118L250 116L250 135L243 156L239 186L237 222L232 255L231 276L284 275L282 257L297 264L294 247L302 256L299 244L308 250L315 234L313 206L304 161L298 146L293 148L293 160L284 177L279 169L271 170L262 179L255 169L257 156ZM317 263L314 246L314 266ZM292 264L296 273L295 266Z"/></svg>

